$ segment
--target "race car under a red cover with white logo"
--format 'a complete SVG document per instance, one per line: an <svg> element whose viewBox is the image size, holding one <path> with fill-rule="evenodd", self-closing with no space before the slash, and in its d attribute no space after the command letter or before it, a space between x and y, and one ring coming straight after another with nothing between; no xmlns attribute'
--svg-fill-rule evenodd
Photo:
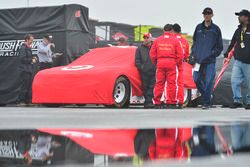
<svg viewBox="0 0 250 167"><path fill-rule="evenodd" d="M34 78L37 104L103 104L118 108L143 103L136 47L93 49L67 66L40 71ZM185 102L195 89L192 66L184 63Z"/></svg>

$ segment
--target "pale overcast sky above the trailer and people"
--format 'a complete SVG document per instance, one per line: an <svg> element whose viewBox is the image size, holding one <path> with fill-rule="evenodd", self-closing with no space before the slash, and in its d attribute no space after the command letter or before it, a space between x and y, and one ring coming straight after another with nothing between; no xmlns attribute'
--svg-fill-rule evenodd
<svg viewBox="0 0 250 167"><path fill-rule="evenodd" d="M214 22L226 39L231 39L238 25L234 12L250 10L249 0L0 0L0 8L26 7L28 1L29 6L81 4L89 8L91 18L100 21L161 27L177 22L188 34L203 20L202 10L212 7Z"/></svg>

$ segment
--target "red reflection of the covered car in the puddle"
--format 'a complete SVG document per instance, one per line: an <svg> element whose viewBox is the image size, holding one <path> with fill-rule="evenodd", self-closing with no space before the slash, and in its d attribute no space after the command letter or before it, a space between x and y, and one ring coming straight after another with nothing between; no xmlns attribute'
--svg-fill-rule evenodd
<svg viewBox="0 0 250 167"><path fill-rule="evenodd" d="M65 136L94 154L134 156L136 129L38 129L40 132Z"/></svg>

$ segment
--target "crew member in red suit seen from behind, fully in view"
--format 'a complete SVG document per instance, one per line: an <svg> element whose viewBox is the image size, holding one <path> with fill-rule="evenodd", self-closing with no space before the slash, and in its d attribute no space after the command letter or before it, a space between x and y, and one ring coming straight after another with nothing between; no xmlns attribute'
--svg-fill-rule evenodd
<svg viewBox="0 0 250 167"><path fill-rule="evenodd" d="M152 63L156 65L156 84L153 99L156 108L163 108L161 101L163 92L167 107L177 108L178 66L183 61L183 50L172 29L173 25L165 25L164 34L155 39L150 50ZM165 91L164 87L166 87Z"/></svg>

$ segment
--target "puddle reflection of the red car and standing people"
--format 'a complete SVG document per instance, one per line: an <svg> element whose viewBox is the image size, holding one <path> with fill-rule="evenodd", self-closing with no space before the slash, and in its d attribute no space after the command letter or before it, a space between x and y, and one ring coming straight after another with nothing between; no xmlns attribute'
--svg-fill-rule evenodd
<svg viewBox="0 0 250 167"><path fill-rule="evenodd" d="M0 164L187 161L250 151L250 123L162 129L38 129L0 131Z"/></svg>

